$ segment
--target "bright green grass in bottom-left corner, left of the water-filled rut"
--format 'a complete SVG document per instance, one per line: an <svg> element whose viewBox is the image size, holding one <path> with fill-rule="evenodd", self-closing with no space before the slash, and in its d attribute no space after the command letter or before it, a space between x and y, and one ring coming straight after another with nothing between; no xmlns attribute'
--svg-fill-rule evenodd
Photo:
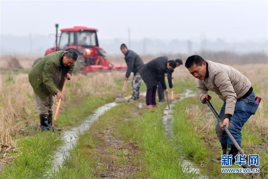
<svg viewBox="0 0 268 179"><path fill-rule="evenodd" d="M17 158L5 168L0 178L49 178L52 156L61 143L57 134L51 132L38 132L34 137L20 140Z"/></svg>

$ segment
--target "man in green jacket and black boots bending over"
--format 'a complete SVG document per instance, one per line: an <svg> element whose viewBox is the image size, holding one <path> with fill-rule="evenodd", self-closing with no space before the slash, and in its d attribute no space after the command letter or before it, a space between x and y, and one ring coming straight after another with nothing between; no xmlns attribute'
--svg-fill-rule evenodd
<svg viewBox="0 0 268 179"><path fill-rule="evenodd" d="M58 101L63 99L59 90L62 90L65 78L71 79L77 56L75 50L49 53L29 72L29 82L34 90L42 131L49 131L51 128L53 96L56 95Z"/></svg>

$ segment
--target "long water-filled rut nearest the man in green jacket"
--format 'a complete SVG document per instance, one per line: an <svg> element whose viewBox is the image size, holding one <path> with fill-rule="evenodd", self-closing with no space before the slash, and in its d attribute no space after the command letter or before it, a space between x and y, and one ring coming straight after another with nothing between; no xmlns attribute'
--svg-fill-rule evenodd
<svg viewBox="0 0 268 179"><path fill-rule="evenodd" d="M141 96L144 96L144 93L141 93ZM131 96L127 96L124 99L127 100L130 97ZM97 108L94 114L88 116L79 126L62 132L61 136L64 139L64 145L57 148L57 151L54 155L54 160L52 161L52 170L58 171L58 167L63 164L64 157L69 156L69 151L72 148L72 145L75 145L78 134L82 133L85 130L88 130L94 121L96 121L102 114L115 107L116 105L118 105L118 103L107 103L104 106Z"/></svg>

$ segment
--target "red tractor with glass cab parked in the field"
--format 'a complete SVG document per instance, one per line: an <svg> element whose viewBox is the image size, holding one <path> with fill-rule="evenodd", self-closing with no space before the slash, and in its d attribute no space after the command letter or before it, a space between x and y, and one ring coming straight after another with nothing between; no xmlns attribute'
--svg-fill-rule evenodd
<svg viewBox="0 0 268 179"><path fill-rule="evenodd" d="M56 24L56 47L46 50L46 54L57 50L74 49L78 53L75 64L77 72L92 72L98 70L127 69L127 66L117 66L105 59L105 51L99 47L96 28L74 26L73 28L60 29L60 41L57 45L58 24Z"/></svg>

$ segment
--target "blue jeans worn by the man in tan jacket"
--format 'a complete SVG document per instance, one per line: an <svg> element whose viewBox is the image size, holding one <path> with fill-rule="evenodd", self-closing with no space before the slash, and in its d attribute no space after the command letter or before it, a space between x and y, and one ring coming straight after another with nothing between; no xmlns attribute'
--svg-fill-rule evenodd
<svg viewBox="0 0 268 179"><path fill-rule="evenodd" d="M222 120L224 120L225 104L226 103L224 102L221 111L219 113L219 116L221 117ZM241 129L247 122L247 120L250 118L250 116L256 113L259 104L260 103L255 101L254 92L252 92L245 99L240 99L236 101L235 110L233 116L231 117L231 120L229 121L228 129L239 146L241 145L241 138L242 138ZM216 122L215 130L219 138L219 141L222 144L233 144L233 142L230 140L226 132L222 130L221 127L219 126L218 121Z"/></svg>

